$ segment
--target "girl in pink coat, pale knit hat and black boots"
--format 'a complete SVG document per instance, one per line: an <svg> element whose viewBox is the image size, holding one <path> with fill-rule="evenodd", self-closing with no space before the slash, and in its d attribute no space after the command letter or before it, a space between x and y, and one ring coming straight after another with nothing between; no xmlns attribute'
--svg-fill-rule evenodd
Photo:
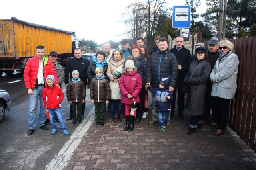
<svg viewBox="0 0 256 170"><path fill-rule="evenodd" d="M140 74L136 71L132 56L128 56L127 61L124 64L124 74L122 74L119 82L121 96L121 102L125 105L125 127L124 131L132 131L134 129L134 120L136 117L136 111L134 115L130 115L130 105L133 101L136 104L140 103L139 92L142 87L142 81Z"/></svg>

